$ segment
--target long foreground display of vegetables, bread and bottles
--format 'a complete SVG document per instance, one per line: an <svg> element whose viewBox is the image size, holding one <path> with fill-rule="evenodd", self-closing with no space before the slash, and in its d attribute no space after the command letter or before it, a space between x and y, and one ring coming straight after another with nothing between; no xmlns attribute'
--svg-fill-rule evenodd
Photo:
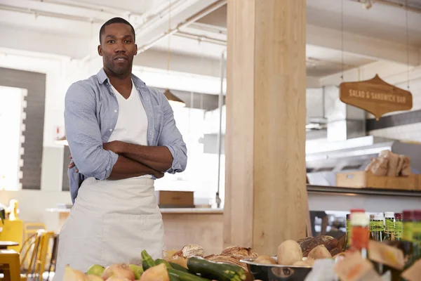
<svg viewBox="0 0 421 281"><path fill-rule="evenodd" d="M349 277L354 273L376 278L390 273L392 279L387 280L406 276L415 281L419 275L413 272L421 268L420 226L420 210L377 214L370 222L363 209L353 209L347 216L347 233L338 240L326 235L286 240L277 247L276 256L247 247L227 247L205 256L201 246L187 244L164 251L162 259L152 259L144 250L140 265L93 265L86 273L67 266L63 281L286 281L305 280L307 275L319 280L323 270L344 281L356 280ZM377 232L381 235L373 235Z"/></svg>

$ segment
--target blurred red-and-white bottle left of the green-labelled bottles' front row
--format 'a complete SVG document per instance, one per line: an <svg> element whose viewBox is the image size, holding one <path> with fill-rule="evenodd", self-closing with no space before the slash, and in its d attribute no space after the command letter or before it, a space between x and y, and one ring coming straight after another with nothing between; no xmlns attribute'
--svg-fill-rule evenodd
<svg viewBox="0 0 421 281"><path fill-rule="evenodd" d="M369 223L365 213L353 213L351 216L352 250L360 251L363 259L367 259Z"/></svg>

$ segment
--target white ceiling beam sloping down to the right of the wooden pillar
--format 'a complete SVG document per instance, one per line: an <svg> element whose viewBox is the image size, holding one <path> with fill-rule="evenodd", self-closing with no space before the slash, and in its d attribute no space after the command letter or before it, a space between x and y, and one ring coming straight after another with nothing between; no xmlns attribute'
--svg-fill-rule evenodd
<svg viewBox="0 0 421 281"><path fill-rule="evenodd" d="M399 44L349 32L342 34L340 30L316 25L307 25L307 44L339 51L342 51L343 46L343 51L366 58L408 63L411 66L421 64L420 48L415 46L407 47L404 43Z"/></svg>

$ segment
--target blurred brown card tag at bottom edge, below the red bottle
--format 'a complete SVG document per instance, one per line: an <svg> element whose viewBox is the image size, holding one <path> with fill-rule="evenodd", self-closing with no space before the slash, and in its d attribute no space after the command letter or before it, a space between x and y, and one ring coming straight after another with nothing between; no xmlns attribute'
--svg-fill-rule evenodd
<svg viewBox="0 0 421 281"><path fill-rule="evenodd" d="M367 259L363 259L359 251L349 254L335 266L335 273L342 281L382 281L373 264Z"/></svg>

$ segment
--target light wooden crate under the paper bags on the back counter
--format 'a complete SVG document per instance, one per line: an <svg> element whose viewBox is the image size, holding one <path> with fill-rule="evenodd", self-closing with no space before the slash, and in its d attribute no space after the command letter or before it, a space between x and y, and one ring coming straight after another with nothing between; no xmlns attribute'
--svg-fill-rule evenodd
<svg viewBox="0 0 421 281"><path fill-rule="evenodd" d="M397 190L419 190L420 175L375 176L370 171L354 171L336 174L336 185L344 188L386 188Z"/></svg>

